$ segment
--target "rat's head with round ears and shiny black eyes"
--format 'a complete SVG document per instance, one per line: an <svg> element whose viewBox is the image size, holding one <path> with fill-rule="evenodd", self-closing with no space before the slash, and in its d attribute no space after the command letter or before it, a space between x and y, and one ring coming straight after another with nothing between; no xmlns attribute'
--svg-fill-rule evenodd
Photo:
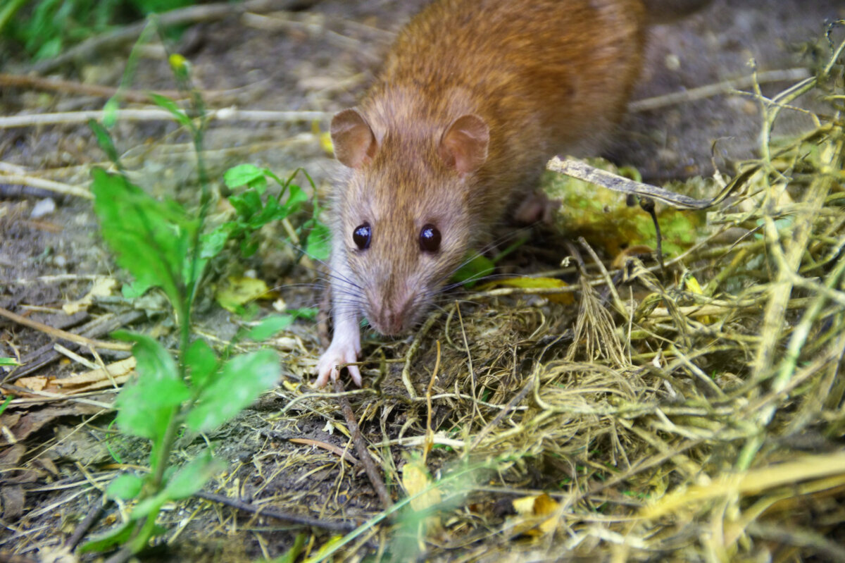
<svg viewBox="0 0 845 563"><path fill-rule="evenodd" d="M372 123L372 126L371 126ZM335 115L335 156L350 174L335 201L335 237L357 283L363 314L382 334L417 324L480 236L475 172L489 130L468 114L430 129Z"/></svg>

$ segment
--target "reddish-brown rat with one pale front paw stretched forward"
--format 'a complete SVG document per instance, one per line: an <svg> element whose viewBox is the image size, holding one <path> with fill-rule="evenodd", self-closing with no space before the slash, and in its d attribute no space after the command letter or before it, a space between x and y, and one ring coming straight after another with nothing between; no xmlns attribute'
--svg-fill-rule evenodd
<svg viewBox="0 0 845 563"><path fill-rule="evenodd" d="M334 335L316 385L357 362L362 317L385 336L410 331L507 214L548 217L552 205L536 191L545 162L590 154L619 122L641 73L648 20L706 1L437 0L423 8L359 105L331 120L344 172L331 200ZM358 367L347 369L360 386Z"/></svg>

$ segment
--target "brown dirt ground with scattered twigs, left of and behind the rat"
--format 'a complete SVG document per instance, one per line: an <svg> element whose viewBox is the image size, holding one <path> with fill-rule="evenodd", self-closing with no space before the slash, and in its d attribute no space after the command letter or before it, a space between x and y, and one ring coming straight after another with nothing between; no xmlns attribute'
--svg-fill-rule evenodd
<svg viewBox="0 0 845 563"><path fill-rule="evenodd" d="M211 93L207 97L211 108L324 112L317 123L319 130L325 131L333 112L355 104L395 31L423 2L280 4L287 10L233 12L191 25L173 49L192 64L196 85ZM806 75L802 69L818 63L813 54L815 46L825 41L826 22L842 18L845 4L841 0L714 0L689 19L651 30L648 62L633 100L636 104L646 98L684 90L690 93L702 86L743 79L750 75L752 59L765 78L763 93L782 90ZM130 47L131 42L103 47L95 56L64 63L46 76L117 86ZM139 67L128 87L172 90L172 74L161 48L154 45L140 52ZM26 74L31 69L16 53L5 53L3 60L3 72L8 74ZM785 80L773 74L790 70L792 74ZM750 85L741 85L739 90L750 90ZM67 88L5 85L0 91L3 117L96 110L104 103L104 97ZM140 106L129 103L127 107ZM809 125L807 118L795 113L780 123L777 133L793 134ZM228 167L253 162L281 177L303 167L324 194L336 165L320 145L314 127L311 119L213 122L205 149L215 188L221 189L221 174ZM723 92L701 99L664 101L656 109L631 112L610 139L607 155L619 164L637 167L655 183L710 176L713 162L730 172L733 161L753 156L759 131L759 107L748 96ZM195 201L194 156L187 134L176 124L123 120L115 138L134 182L156 196ZM109 331L121 327L152 331L172 345L175 335L166 320L166 303L155 296L129 304L115 294L95 298L92 305L73 314L63 312L64 304L90 291L96 276L123 279L122 274L116 271L98 235L90 200L14 181L26 176L87 189L90 167L104 166L105 160L85 123L0 128L0 308L96 338L106 338ZM268 242L254 258L214 267L229 275L258 276L275 287L289 306L319 303L318 276L292 264L289 249L272 244L274 236L281 237L281 230L270 229L267 234ZM548 267L554 265L550 260ZM261 307L270 309L270 303L261 303ZM199 334L224 342L241 322L217 307L210 294L200 298L194 319ZM297 322L282 340L275 346L286 353L285 380L307 384L319 356L315 326ZM27 376L62 378L85 371L72 355L56 352L55 342L48 332L0 318L0 357L24 358ZM96 363L85 347L63 345ZM378 347L399 358L408 345L408 341L397 341ZM373 344L370 349L375 347ZM102 351L101 356L107 363L126 354ZM422 373L413 377L423 381ZM389 396L404 392L396 379L385 383ZM6 385L6 392L18 391L13 383ZM308 391L303 387L300 392ZM111 445L106 441L111 435L112 415L101 404L112 401L112 392L100 391L74 401L61 399L30 396L3 413L0 560L12 560L13 554L21 561L51 560L76 524L101 502L101 488L114 475L110 449L120 452L124 464L145 462L144 445L133 440ZM210 436L217 455L229 464L226 478L216 483L216 492L254 505L293 507L303 515L343 522L363 522L379 511L378 498L363 473L341 467L338 456L330 452L305 455L308 446L290 441L306 437L346 447L337 407L330 400L314 401L321 408L303 401L283 412L289 406L287 396L271 392L236 422ZM406 403L398 398L389 402L390 407L382 403L375 413L368 410L373 404L370 400L353 397L363 433L373 443L379 443L381 435L398 438L419 423L412 417L416 411ZM439 407L437 416L450 417L450 408ZM194 436L185 437L178 448L180 460L198 451L203 445L200 442ZM401 465L402 456L395 451L392 455L393 463ZM438 455L441 463L449 459L447 451ZM95 531L105 529L116 518L112 507ZM168 544L149 560L275 557L290 548L302 529L281 521L238 516L229 508L199 499L166 511L162 521L179 533L168 538ZM328 534L315 537L319 544ZM378 545L375 536L358 547L363 554L373 553ZM465 553L455 547L451 558L461 560ZM473 546L472 553L472 560L485 559L483 541Z"/></svg>

